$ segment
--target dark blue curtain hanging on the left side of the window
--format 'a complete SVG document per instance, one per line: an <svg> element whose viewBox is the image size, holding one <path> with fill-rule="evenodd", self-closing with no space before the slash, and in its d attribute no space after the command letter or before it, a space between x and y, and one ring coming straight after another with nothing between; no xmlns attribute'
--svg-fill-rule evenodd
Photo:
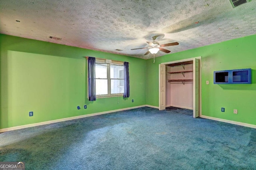
<svg viewBox="0 0 256 170"><path fill-rule="evenodd" d="M88 57L88 96L89 101L96 101L95 57Z"/></svg>

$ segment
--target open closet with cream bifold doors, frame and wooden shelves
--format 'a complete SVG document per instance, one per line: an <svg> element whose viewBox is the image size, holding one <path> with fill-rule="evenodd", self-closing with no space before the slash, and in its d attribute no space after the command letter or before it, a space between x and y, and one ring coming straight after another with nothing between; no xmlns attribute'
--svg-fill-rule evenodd
<svg viewBox="0 0 256 170"><path fill-rule="evenodd" d="M201 57L171 61L159 65L159 110L178 107L201 112Z"/></svg>

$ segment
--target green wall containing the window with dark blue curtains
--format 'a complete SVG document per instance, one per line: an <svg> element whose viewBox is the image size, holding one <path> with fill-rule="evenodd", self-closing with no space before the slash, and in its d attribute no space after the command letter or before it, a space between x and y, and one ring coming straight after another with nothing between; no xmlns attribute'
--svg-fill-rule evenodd
<svg viewBox="0 0 256 170"><path fill-rule="evenodd" d="M128 61L130 97L89 102L83 56ZM0 129L146 104L144 59L0 34L0 61Z"/></svg>

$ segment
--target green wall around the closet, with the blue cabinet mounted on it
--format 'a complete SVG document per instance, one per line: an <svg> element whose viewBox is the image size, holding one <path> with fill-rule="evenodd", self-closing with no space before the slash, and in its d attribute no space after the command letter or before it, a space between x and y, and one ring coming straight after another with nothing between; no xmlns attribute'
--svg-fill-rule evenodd
<svg viewBox="0 0 256 170"><path fill-rule="evenodd" d="M202 56L202 115L256 125L255 45L256 35L252 35L157 57L155 63L148 59L147 105L158 106L158 64ZM213 84L213 71L245 68L252 68L252 84ZM233 109L238 109L237 115Z"/></svg>

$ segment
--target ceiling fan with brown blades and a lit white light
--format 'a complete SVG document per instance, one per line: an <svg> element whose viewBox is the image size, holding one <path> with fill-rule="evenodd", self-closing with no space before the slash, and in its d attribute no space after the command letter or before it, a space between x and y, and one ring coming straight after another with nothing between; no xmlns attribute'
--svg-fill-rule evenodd
<svg viewBox="0 0 256 170"><path fill-rule="evenodd" d="M152 37L153 42L147 42L149 47L144 47L144 48L148 48L148 51L144 54L144 55L148 55L148 53L152 53L152 54L156 54L159 50L163 51L165 53L170 53L171 51L169 51L168 49L164 49L161 47L167 47L167 46L172 46L172 45L179 45L178 42L174 42L174 43L165 43L160 45L159 42L156 42L156 36ZM134 48L134 49L144 49L144 48ZM131 49L131 50L134 50Z"/></svg>

